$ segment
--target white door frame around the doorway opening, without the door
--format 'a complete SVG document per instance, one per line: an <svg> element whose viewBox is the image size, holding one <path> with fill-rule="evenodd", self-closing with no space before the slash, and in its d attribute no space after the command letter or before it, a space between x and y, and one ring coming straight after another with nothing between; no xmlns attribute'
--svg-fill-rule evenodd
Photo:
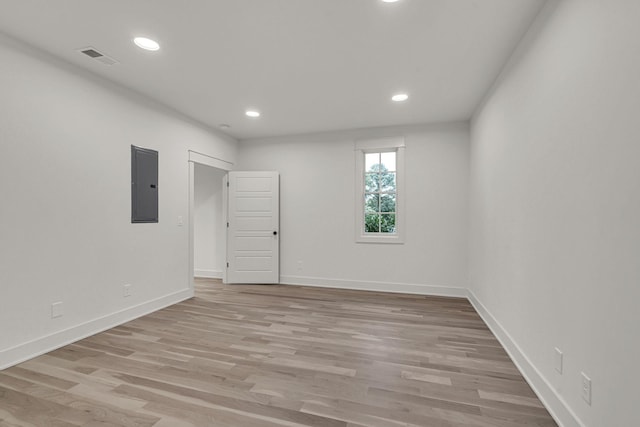
<svg viewBox="0 0 640 427"><path fill-rule="evenodd" d="M196 167L195 164L201 164L205 166L210 166L216 169L220 169L226 172L233 170L233 163L228 162L226 160L219 159L217 157L209 156L207 154L202 154L197 151L188 150L189 153L189 269L188 269L188 280L187 284L189 289L193 293L193 278L195 275L195 266L194 266L194 231L193 231L193 219L194 219L194 210L195 210L195 182L196 182ZM225 178L226 179L226 178ZM222 185L222 183L220 184ZM223 187L223 192L226 190L226 187ZM222 198L222 216L224 221L227 221L227 206L226 206L226 196L223 193ZM227 258L227 233L224 234L224 259ZM222 270L223 277L226 275L226 268Z"/></svg>

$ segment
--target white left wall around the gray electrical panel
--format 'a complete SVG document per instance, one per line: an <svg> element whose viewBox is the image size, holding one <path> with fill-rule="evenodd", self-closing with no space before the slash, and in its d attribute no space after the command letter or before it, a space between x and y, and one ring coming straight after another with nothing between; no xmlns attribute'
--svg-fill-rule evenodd
<svg viewBox="0 0 640 427"><path fill-rule="evenodd" d="M2 368L189 297L187 150L236 143L4 36L0 63ZM130 222L131 144L159 151L158 224Z"/></svg>

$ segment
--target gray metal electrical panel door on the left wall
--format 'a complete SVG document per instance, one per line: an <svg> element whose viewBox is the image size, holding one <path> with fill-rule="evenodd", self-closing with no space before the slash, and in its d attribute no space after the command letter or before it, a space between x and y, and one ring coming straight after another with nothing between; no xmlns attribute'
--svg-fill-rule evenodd
<svg viewBox="0 0 640 427"><path fill-rule="evenodd" d="M131 146L131 222L158 222L158 152Z"/></svg>

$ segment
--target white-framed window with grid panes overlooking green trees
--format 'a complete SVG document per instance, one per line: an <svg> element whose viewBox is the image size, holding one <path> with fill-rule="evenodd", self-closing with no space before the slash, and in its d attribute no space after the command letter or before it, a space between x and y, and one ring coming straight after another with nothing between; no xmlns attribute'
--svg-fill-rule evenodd
<svg viewBox="0 0 640 427"><path fill-rule="evenodd" d="M356 141L356 242L404 242L404 138Z"/></svg>

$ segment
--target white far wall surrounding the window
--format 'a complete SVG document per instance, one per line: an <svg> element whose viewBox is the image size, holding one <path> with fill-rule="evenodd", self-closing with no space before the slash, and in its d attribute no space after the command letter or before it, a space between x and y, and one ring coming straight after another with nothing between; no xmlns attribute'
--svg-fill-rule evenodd
<svg viewBox="0 0 640 427"><path fill-rule="evenodd" d="M355 242L354 141L404 136L402 245ZM242 141L240 170L280 172L281 282L466 295L467 124Z"/></svg>

